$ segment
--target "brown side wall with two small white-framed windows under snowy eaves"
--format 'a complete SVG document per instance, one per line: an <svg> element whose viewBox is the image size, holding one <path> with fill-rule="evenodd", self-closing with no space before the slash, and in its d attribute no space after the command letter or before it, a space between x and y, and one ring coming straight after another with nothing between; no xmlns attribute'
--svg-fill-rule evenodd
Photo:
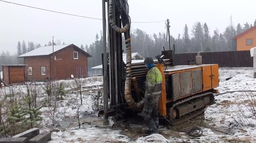
<svg viewBox="0 0 256 143"><path fill-rule="evenodd" d="M45 80L50 75L50 56L24 57L26 68L26 77L30 80ZM28 67L32 67L32 75L28 75ZM46 75L41 75L41 67L46 67Z"/></svg>

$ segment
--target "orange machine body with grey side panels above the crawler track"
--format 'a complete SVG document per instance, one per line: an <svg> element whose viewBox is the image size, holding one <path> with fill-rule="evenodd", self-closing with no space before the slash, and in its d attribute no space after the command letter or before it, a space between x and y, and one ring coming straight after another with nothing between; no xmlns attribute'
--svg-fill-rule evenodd
<svg viewBox="0 0 256 143"><path fill-rule="evenodd" d="M181 65L165 67L156 64L163 76L162 95L159 99L160 115L168 114L168 104L203 92L215 93L219 86L217 64ZM174 96L175 95L175 96Z"/></svg>

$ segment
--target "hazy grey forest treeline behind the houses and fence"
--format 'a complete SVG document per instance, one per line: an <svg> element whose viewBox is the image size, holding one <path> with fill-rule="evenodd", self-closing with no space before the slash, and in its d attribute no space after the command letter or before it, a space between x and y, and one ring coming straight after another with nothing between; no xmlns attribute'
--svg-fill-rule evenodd
<svg viewBox="0 0 256 143"><path fill-rule="evenodd" d="M188 28L187 24L185 24L182 33L179 34L178 37L175 38L171 35L170 42L172 48L173 45L175 45L175 53L233 51L236 50L236 41L233 38L253 26L256 26L256 20L254 24L246 22L244 24L238 23L237 26L234 26L231 23L225 28L224 32L221 33L218 29L215 29L213 34L210 35L208 25L206 23L195 22L191 28ZM60 40L57 40L57 43L54 44L61 44L61 42ZM45 46L47 45L52 45L52 42L49 41L48 44L45 44ZM158 34L149 35L140 29L131 30L132 52L138 52L143 57L154 57L155 55L161 54L161 51L164 50L163 46L166 50L169 50L166 33L159 32ZM38 47L41 47L41 45L35 44L34 42L27 42L26 44L25 41L18 41L16 55L10 55L8 51L2 51L0 53L0 65L23 64L23 59L17 58L17 56ZM102 64L102 33L100 33L100 35L96 34L95 41L93 43L89 45L79 45L79 47L92 55L92 58L88 58L88 68ZM123 42L123 49L124 52L126 52L125 42Z"/></svg>

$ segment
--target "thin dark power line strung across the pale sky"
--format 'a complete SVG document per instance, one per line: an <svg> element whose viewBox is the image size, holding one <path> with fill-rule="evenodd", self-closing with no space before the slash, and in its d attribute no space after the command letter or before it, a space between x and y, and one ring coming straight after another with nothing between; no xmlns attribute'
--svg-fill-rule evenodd
<svg viewBox="0 0 256 143"><path fill-rule="evenodd" d="M34 6L29 6L29 5L24 5L24 4L19 4L19 3L15 3L15 2L9 2L9 1L5 1L5 0L0 0L0 1L6 2L6 3L11 3L11 4L16 4L16 5L20 5L20 6L25 6L25 7L29 7L29 8L35 8L35 9L39 9L39 10L44 10L44 11L50 11L50 12L55 12L55 13L61 13L61 14L70 15L70 16L76 16L76 17L82 17L82 18L89 18L89 19L102 20L101 18L94 18L94 17L88 17L88 16L82 16L82 15L70 14L70 13L65 13L65 12L59 12L59 11L54 11L54 10L49 10L49 9L44 9L44 8L39 8L39 7L34 7ZM156 23L156 22L164 22L164 21L166 21L166 20L162 20L162 21L148 21L148 22L131 22L131 23Z"/></svg>

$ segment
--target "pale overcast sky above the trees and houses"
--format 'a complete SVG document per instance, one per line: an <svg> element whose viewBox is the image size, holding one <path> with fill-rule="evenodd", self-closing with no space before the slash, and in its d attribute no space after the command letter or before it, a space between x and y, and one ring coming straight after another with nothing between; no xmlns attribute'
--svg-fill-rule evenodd
<svg viewBox="0 0 256 143"><path fill-rule="evenodd" d="M87 17L102 18L102 0L6 0L24 5L55 10ZM208 25L210 34L217 28L223 33L230 24L242 26L256 19L256 0L128 0L131 22L162 21L170 19L170 33L177 37L188 24L197 21ZM165 22L132 23L132 29L141 29L152 35L166 32ZM90 44L96 33L102 31L102 20L74 17L0 1L0 52L16 52L18 41L33 41L42 46L52 40Z"/></svg>

